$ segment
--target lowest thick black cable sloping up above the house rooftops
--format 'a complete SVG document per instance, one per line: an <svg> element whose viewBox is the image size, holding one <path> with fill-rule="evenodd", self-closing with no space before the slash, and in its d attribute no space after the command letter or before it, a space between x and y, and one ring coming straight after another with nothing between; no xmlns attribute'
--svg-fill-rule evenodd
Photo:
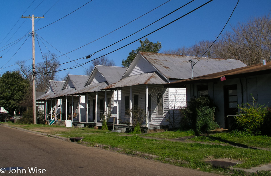
<svg viewBox="0 0 271 176"><path fill-rule="evenodd" d="M151 33L149 33L149 34L147 34L147 35L145 35L145 36L143 36L143 37L141 37L141 38L139 38L139 39L137 39L137 40L135 40L135 41L133 41L133 42L131 42L131 43L129 43L129 44L126 44L126 45L124 45L124 46L122 46L122 47L120 47L120 48L118 48L118 49L116 49L116 50L114 50L114 51L111 51L111 52L109 52L109 53L107 53L107 54L104 54L103 56L106 56L106 55L108 55L108 54L111 54L112 52L115 52L115 51L117 51L117 50L120 50L121 48L124 48L124 47L126 47L126 46L128 46L128 45L130 45L130 44L132 44L132 43L135 43L136 41L138 41L138 40L140 40L140 39L142 39L142 38L144 38L144 37L147 37L148 35L150 35L150 34L152 34L152 33L155 33L156 31L159 31L160 29L162 29L162 28L164 28L164 27L170 25L171 23L174 23L175 21L177 21L177 20L179 20L179 19L185 17L186 15L188 15L188 14L190 14L190 13L196 11L197 9L199 9L199 8L201 8L201 7L203 7L203 6L205 6L206 4L210 3L211 1L213 1L213 0L210 0L210 1L206 2L206 3L204 3L203 5L197 7L196 9L193 9L192 11L186 13L185 15L183 15L183 16L181 16L181 17L179 17L179 18L177 18L177 19L171 21L170 23L167 23L166 25L160 27L159 29L156 29L155 31L153 31L153 32L151 32ZM103 57L103 56L100 56L100 57L98 57L98 58L101 58L101 57ZM98 58L92 59L92 60L90 60L90 61L88 61L88 62L85 62L85 63L83 63L83 64L80 64L80 65L78 65L78 66L73 66L73 67L70 67L70 68L63 69L63 70L69 70L69 69L77 68L77 67L79 67L79 66L82 66L82 65L84 65L84 64L87 64L87 63L89 63L89 62L91 62L91 61L93 61L93 60L96 60L96 59L98 59ZM80 58L79 58L79 59L80 59ZM78 60L78 59L76 59L76 60ZM63 63L63 64L64 64L64 63ZM63 71L63 70L58 70L58 71Z"/></svg>

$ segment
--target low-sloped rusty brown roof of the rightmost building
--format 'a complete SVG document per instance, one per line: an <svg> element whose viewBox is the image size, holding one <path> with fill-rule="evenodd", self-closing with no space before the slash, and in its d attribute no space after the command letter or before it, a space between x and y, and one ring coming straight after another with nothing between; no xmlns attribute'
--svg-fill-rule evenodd
<svg viewBox="0 0 271 176"><path fill-rule="evenodd" d="M198 76L193 79L184 79L171 83L164 84L165 87L183 87L186 84L193 84L197 82L217 82L220 78L225 76L227 79L239 78L251 75L260 75L271 73L271 62L266 62L266 65L256 64L251 66L246 66L242 68L236 68L232 70L227 70L223 72L207 74L204 76Z"/></svg>

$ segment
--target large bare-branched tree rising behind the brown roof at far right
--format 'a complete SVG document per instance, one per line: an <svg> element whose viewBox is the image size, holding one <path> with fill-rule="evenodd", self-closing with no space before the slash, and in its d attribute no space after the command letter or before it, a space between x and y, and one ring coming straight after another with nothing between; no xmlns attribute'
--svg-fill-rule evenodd
<svg viewBox="0 0 271 176"><path fill-rule="evenodd" d="M247 65L271 60L270 16L252 17L247 23L238 23L233 32L225 33L219 41L224 58L239 59Z"/></svg>

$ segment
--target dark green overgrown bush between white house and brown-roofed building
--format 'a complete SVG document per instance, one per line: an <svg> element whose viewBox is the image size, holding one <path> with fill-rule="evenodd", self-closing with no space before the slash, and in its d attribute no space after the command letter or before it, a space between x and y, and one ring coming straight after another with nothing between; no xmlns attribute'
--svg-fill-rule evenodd
<svg viewBox="0 0 271 176"><path fill-rule="evenodd" d="M203 95L187 102L187 107L181 109L183 118L181 129L193 129L195 135L207 133L219 127L215 120L216 106L209 95Z"/></svg>

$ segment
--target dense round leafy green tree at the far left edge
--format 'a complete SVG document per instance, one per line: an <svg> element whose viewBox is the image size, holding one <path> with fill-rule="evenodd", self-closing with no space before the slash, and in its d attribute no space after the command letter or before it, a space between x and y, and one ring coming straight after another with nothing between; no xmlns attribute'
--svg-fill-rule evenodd
<svg viewBox="0 0 271 176"><path fill-rule="evenodd" d="M0 106L12 115L20 108L29 88L29 81L24 79L18 71L6 72L0 78Z"/></svg>

